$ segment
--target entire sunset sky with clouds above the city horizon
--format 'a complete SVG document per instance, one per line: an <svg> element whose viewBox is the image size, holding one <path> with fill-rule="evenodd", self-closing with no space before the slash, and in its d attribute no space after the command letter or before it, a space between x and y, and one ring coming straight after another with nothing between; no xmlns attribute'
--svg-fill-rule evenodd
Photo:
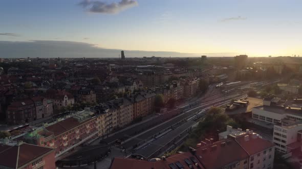
<svg viewBox="0 0 302 169"><path fill-rule="evenodd" d="M129 57L302 55L301 6L300 0L2 0L0 57L118 57L120 50Z"/></svg>

